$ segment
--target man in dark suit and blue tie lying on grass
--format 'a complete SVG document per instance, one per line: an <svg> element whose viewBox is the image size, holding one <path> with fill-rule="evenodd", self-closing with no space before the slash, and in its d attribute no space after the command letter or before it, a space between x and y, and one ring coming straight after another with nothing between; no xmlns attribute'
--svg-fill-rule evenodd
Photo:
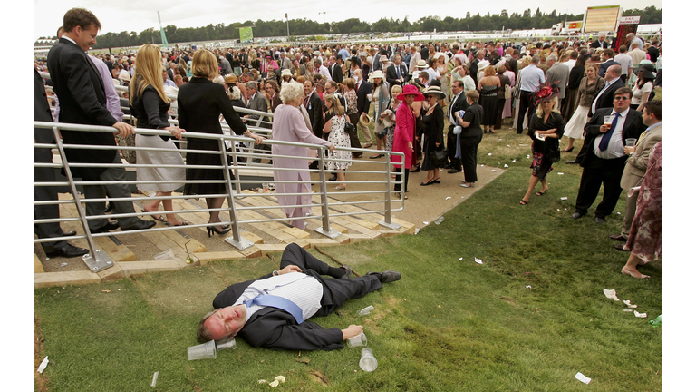
<svg viewBox="0 0 696 392"><path fill-rule="evenodd" d="M391 270L349 279L350 267L329 267L295 243L285 247L280 267L281 270L235 283L220 292L213 300L216 310L198 325L198 341L224 342L238 334L253 347L342 348L341 342L360 335L362 326L324 329L304 320L329 315L347 299L360 298L382 289L382 283L401 279L401 273ZM333 279L324 279L322 275Z"/></svg>

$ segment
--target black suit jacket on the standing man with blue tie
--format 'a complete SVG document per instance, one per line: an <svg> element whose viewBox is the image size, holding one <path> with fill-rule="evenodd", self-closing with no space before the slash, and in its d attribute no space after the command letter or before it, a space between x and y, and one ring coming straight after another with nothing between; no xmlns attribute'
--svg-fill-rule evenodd
<svg viewBox="0 0 696 392"><path fill-rule="evenodd" d="M582 161L580 161L580 166L584 168L596 168L601 166L602 163L606 161L604 159L597 158L597 156L594 155L594 140L597 138L597 136L601 137L604 135L604 133L599 131L599 128L604 124L604 116L610 115L613 110L613 107L597 109L597 112L594 113L592 119L585 124L585 138L587 139L589 148L587 149L587 152L585 152ZM629 109L628 114L626 114L626 120L623 122L623 145L626 145L627 138L638 139L646 128L647 126L643 124L642 113ZM628 157L625 156L617 159L623 159L625 161L628 159Z"/></svg>

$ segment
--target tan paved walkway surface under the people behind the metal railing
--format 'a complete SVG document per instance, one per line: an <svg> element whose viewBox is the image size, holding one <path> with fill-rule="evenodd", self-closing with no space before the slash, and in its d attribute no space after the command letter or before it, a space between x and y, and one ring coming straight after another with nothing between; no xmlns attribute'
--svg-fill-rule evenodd
<svg viewBox="0 0 696 392"><path fill-rule="evenodd" d="M383 198L382 194L364 193L365 191L384 190L384 179L372 174L351 173L351 171L375 170L377 162L384 163L385 158L371 160L368 154L362 159L354 160L348 169L347 181L362 176L362 181L375 181L374 184L351 184L348 182L346 191L335 191L335 182L327 182L327 191L331 202L357 202L375 201ZM179 270L182 268L207 264L212 260L231 260L254 258L264 256L267 252L283 250L288 243L296 242L304 248L315 246L332 246L361 240L372 240L382 236L397 235L402 233L415 234L417 230L430 224L446 211L466 200L471 194L482 186L492 181L501 173L488 167L478 168L478 182L474 188L462 188L459 186L463 174L449 174L446 170L440 171L440 184L420 186L427 173L420 171L411 173L409 191L406 193L408 200L404 201L403 211L393 213L393 221L401 224L401 229L390 230L382 227L379 221L383 220L382 213L366 213L384 209L382 202L364 203L357 205L333 206L333 213L348 213L348 215L331 218L331 228L342 233L335 240L329 239L314 229L321 227L322 221L318 219L307 220L307 228L298 230L285 222L245 223L241 225L241 235L252 242L254 246L247 250L237 250L224 239L231 235L231 231L225 236L213 236L208 238L205 228L183 228L179 230L143 232L139 234L126 234L95 238L98 249L105 251L115 261L115 266L92 273L87 269L81 258L46 259L40 244L34 244L34 287L45 287L64 284L94 283L104 279L121 279L132 274L146 273L160 270ZM372 176L372 178L371 178ZM318 174L313 174L312 179L318 181ZM269 180L269 182L272 180ZM313 191L319 191L319 186L314 184ZM264 194L262 190L244 191L244 194ZM176 194L176 193L175 193ZM70 194L60 194L62 200L72 200ZM395 196L394 196L395 198ZM319 203L318 195L313 197L314 203ZM140 211L139 201L134 202L136 211ZM225 204L227 206L227 202ZM264 207L277 205L273 191L266 192L262 197L245 197L237 200L238 207ZM394 199L392 208L398 209L401 201ZM193 210L205 208L203 199L196 201L175 200L176 210ZM315 207L315 214L320 214L320 207ZM361 213L362 212L362 213ZM240 220L259 220L285 218L285 214L278 209L238 210ZM61 216L77 217L77 211L73 204L61 206ZM225 216L225 213L222 214ZM150 217L144 217L151 220ZM207 212L181 214L181 220L189 220L193 224L208 222ZM225 220L225 218L223 218ZM63 230L76 230L82 235L82 227L76 221L64 222ZM165 227L158 221L156 227ZM87 248L86 240L73 240L74 245ZM162 252L170 250L168 257L163 257ZM187 254L189 262L187 262ZM158 256L159 255L159 256Z"/></svg>

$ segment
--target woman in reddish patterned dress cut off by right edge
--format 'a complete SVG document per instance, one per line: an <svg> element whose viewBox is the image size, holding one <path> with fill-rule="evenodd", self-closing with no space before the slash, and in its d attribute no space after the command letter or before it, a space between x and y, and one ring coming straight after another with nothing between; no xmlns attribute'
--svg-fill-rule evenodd
<svg viewBox="0 0 696 392"><path fill-rule="evenodd" d="M621 273L638 279L650 278L636 267L657 260L662 255L662 142L655 144L650 152L631 234L623 249L631 250L631 256Z"/></svg>

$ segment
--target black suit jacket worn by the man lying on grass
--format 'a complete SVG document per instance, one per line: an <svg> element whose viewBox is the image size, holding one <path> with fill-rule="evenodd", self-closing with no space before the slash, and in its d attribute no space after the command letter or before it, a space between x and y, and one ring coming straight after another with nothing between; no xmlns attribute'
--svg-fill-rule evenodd
<svg viewBox="0 0 696 392"><path fill-rule="evenodd" d="M331 290L324 283L324 278L314 270L306 270L304 273L319 280L324 288L324 296L320 301L322 306L330 305ZM223 290L213 300L213 308L225 308L234 305L245 289L256 280L268 279L272 274L266 274L258 279L233 284ZM295 318L285 310L266 307L260 309L251 316L244 327L239 330L237 336L252 347L265 347L273 349L292 350L332 350L342 348L343 332L339 328L324 329L320 325L305 320L297 324Z"/></svg>

